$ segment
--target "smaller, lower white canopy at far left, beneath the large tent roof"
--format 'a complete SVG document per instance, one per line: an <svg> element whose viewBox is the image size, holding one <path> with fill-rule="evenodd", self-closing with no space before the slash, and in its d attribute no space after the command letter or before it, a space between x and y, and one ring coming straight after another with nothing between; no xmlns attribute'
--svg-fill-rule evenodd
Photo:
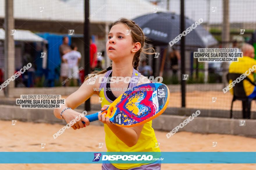
<svg viewBox="0 0 256 170"><path fill-rule="evenodd" d="M15 41L26 41L26 42L42 42L42 41L45 42L46 41L42 37L34 34L29 30L16 30L13 36ZM4 40L4 39L5 39L5 30L3 30L3 28L0 28L0 40Z"/></svg>

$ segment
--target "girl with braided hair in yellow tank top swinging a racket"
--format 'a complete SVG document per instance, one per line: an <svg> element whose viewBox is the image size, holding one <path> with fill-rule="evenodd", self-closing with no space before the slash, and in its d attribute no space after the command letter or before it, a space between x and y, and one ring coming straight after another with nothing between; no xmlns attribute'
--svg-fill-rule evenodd
<svg viewBox="0 0 256 170"><path fill-rule="evenodd" d="M60 109L54 109L54 114L57 118L62 117L69 123L80 113L72 109L84 103L90 96L97 94L103 98L102 110L105 110L118 96L125 91L106 91L105 88L132 88L143 83L128 83L119 81L119 83L98 83L99 77L134 77L143 78L137 67L140 61L141 52L145 54L154 54L147 52L150 49L144 49L146 37L143 34L141 28L134 23L134 21L121 18L113 23L111 30L108 34L108 41L106 43L107 56L113 61L112 66L106 70L97 72L98 76L96 81L92 85L88 77L85 79L81 87L66 98L66 104L62 105ZM154 49L153 49L154 50ZM95 72L93 72L95 73ZM93 74L92 73L92 74ZM147 78L146 83L150 83ZM141 81L143 82L143 81ZM101 91L94 91L94 88L102 88ZM66 109L70 107L71 109ZM109 118L105 118L106 114L99 113L98 118L104 123L104 131L106 133L106 147L108 152L160 152L159 147L156 147L157 139L152 128L152 120L136 127L119 127L112 124ZM88 126L89 120L87 118L81 118L79 122L72 126L73 129L80 129L86 127L81 121L84 121ZM110 162L104 162L102 164L103 170L118 170L118 169L161 169L159 162L153 162L151 164L137 163L137 164L111 164Z"/></svg>

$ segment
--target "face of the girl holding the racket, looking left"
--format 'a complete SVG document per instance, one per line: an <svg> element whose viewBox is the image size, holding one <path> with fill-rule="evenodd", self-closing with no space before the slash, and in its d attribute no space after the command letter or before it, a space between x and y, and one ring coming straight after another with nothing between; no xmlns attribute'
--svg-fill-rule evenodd
<svg viewBox="0 0 256 170"><path fill-rule="evenodd" d="M114 25L108 34L106 50L107 55L112 61L134 55L131 53L134 47L131 32L126 35L126 30L129 30L129 28L125 24L119 23Z"/></svg>

